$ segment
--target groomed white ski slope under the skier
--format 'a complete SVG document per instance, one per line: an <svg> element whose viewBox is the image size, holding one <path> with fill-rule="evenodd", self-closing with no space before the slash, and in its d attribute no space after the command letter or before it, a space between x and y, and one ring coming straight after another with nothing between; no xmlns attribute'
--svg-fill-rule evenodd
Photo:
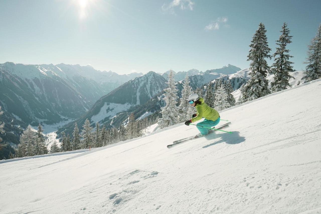
<svg viewBox="0 0 321 214"><path fill-rule="evenodd" d="M171 149L196 127L1 163L0 213L320 213L320 97L316 80L232 107L233 134Z"/></svg>

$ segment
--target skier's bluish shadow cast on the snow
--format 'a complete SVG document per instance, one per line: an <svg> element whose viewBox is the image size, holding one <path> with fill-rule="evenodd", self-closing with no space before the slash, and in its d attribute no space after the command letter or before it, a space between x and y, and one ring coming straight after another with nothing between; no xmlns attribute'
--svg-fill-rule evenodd
<svg viewBox="0 0 321 214"><path fill-rule="evenodd" d="M218 143L227 143L227 144L239 144L241 142L245 141L245 137L241 137L239 135L239 132L233 132L233 133L221 133L221 134L210 134L208 136L205 136L205 138L209 141L221 138L221 140L217 142L210 143L206 146L203 146L203 148L207 148L209 146L213 146Z"/></svg>

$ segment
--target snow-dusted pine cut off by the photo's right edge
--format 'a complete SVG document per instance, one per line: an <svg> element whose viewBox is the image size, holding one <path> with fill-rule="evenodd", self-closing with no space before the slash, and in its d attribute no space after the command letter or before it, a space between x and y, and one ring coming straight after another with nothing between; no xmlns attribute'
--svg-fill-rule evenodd
<svg viewBox="0 0 321 214"><path fill-rule="evenodd" d="M308 57L306 71L304 72L305 82L321 78L321 24L318 27L317 35L308 46Z"/></svg>

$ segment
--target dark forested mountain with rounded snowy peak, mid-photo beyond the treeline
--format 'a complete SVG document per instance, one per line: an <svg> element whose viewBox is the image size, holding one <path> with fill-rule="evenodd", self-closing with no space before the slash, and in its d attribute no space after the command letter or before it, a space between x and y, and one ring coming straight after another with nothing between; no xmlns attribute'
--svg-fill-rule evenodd
<svg viewBox="0 0 321 214"><path fill-rule="evenodd" d="M88 112L59 129L58 132L72 133L74 123L81 127L87 118L92 123L100 122L108 127L118 113L127 111L130 107L142 105L160 93L167 86L165 82L164 77L152 71L136 77L101 97ZM126 120L126 118L123 119Z"/></svg>

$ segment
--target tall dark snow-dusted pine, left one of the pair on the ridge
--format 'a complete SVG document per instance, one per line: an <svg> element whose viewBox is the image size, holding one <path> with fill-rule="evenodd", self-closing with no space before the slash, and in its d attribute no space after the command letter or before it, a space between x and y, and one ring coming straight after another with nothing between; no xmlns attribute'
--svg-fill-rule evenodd
<svg viewBox="0 0 321 214"><path fill-rule="evenodd" d="M265 26L260 23L249 45L250 50L247 55L247 61L251 61L250 69L252 72L249 74L251 78L245 84L241 94L244 102L264 97L271 93L266 79L270 67L267 65L265 58L271 59L272 57L269 55L271 48L268 46L265 33Z"/></svg>

